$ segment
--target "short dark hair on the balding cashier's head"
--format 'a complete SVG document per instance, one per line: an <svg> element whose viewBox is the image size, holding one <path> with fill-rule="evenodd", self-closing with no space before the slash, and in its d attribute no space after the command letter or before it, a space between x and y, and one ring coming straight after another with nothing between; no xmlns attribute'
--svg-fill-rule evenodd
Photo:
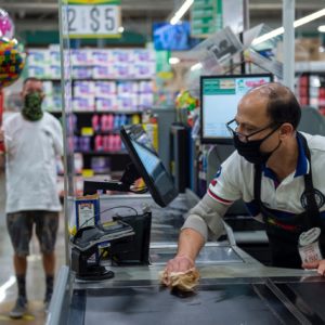
<svg viewBox="0 0 325 325"><path fill-rule="evenodd" d="M276 125L289 122L296 130L300 122L301 107L291 90L278 82L265 83L260 88L266 88L261 94L268 94L266 114L272 121Z"/></svg>

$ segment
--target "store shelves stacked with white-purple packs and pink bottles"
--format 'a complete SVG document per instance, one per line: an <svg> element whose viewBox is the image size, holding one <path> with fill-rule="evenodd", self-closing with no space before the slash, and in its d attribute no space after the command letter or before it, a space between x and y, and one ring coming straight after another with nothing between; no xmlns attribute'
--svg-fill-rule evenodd
<svg viewBox="0 0 325 325"><path fill-rule="evenodd" d="M81 49L73 50L72 63L76 174L118 177L130 161L119 129L141 122L143 110L153 106L155 53L144 49ZM29 76L44 82L43 108L60 118L58 48L29 50L27 69Z"/></svg>

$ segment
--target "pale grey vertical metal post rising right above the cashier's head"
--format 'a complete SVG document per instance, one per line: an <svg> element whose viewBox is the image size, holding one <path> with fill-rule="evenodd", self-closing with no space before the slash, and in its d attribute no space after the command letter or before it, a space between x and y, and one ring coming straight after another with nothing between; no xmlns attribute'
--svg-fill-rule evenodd
<svg viewBox="0 0 325 325"><path fill-rule="evenodd" d="M295 0L283 0L284 84L295 90Z"/></svg>

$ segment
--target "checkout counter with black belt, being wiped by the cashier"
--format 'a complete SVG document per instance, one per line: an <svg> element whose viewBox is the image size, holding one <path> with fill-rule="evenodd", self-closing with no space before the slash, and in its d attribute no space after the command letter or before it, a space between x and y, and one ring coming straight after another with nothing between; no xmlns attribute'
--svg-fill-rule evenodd
<svg viewBox="0 0 325 325"><path fill-rule="evenodd" d="M225 225L224 242L207 243L196 261L195 294L176 296L158 273L177 250L179 229L196 202L181 194L167 208L148 195L101 197L103 209L131 205L152 210L150 265L110 266L114 278L79 281L63 266L48 325L74 324L324 324L325 278L314 271L268 268L236 246Z"/></svg>

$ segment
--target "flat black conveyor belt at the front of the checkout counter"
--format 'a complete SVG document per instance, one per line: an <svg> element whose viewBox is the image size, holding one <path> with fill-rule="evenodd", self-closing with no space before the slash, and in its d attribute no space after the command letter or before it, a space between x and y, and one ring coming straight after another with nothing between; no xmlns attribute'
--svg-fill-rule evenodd
<svg viewBox="0 0 325 325"><path fill-rule="evenodd" d="M132 282L129 287L77 289L73 295L68 324L322 324L324 312L288 303L285 292L277 295L270 281L247 280L240 283L206 280L197 292L186 298L171 295L168 289L150 282ZM294 285L296 289L296 283ZM311 294L320 283L298 284L296 294ZM282 284L276 284L281 290ZM302 289L302 290L300 290ZM321 294L321 291L318 294ZM298 295L299 296L299 295ZM323 301L320 301L324 306ZM302 307L303 310L303 307ZM74 321L77 321L76 323ZM316 323L315 323L316 322Z"/></svg>

